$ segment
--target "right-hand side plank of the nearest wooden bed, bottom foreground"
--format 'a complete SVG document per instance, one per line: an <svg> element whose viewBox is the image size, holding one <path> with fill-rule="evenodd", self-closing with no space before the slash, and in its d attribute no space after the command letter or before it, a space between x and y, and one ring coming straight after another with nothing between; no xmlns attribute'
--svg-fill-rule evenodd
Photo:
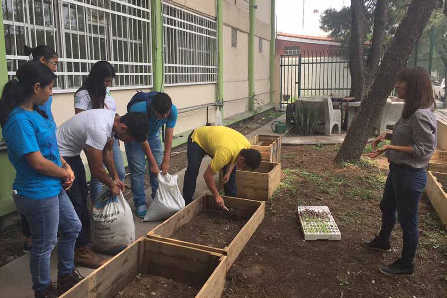
<svg viewBox="0 0 447 298"><path fill-rule="evenodd" d="M219 265L205 282L195 298L220 298L224 292L226 272L228 271L227 257L222 256Z"/></svg>

